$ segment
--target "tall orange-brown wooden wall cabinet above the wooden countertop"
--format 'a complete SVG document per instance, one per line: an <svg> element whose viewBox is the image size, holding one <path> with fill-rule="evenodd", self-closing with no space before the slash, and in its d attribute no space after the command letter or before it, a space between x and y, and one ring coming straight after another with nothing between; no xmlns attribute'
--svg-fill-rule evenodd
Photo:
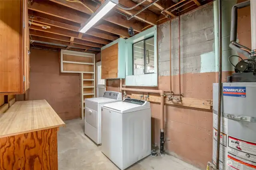
<svg viewBox="0 0 256 170"><path fill-rule="evenodd" d="M0 0L0 94L21 94L28 88L28 3Z"/></svg>

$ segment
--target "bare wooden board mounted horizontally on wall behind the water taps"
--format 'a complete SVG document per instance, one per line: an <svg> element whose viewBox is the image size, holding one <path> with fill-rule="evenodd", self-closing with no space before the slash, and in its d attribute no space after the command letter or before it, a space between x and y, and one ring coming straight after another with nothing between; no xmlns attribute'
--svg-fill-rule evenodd
<svg viewBox="0 0 256 170"><path fill-rule="evenodd" d="M141 95L143 97L141 97ZM146 99L147 94L132 93L132 95L127 95L127 96L129 96L132 99L141 99L141 100L147 100L149 102L160 103L160 95L149 95L147 99ZM210 99L196 99L196 98L182 97L182 101L177 102L176 100L169 100L168 96L166 96L164 103L169 105L194 107L194 108L200 108L200 109L208 109L208 110L212 109L211 108L212 100Z"/></svg>

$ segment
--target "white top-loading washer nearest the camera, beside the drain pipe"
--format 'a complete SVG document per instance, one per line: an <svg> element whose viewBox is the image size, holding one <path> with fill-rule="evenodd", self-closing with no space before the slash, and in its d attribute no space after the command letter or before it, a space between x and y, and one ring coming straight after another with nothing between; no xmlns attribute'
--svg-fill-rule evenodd
<svg viewBox="0 0 256 170"><path fill-rule="evenodd" d="M151 154L148 101L124 99L102 105L102 153L124 170Z"/></svg>

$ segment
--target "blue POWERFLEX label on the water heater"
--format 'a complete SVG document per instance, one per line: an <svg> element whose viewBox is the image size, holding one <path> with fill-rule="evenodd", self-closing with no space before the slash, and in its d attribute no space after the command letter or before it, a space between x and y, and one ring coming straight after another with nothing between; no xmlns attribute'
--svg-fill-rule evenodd
<svg viewBox="0 0 256 170"><path fill-rule="evenodd" d="M223 95L232 97L246 97L246 87L224 86Z"/></svg>

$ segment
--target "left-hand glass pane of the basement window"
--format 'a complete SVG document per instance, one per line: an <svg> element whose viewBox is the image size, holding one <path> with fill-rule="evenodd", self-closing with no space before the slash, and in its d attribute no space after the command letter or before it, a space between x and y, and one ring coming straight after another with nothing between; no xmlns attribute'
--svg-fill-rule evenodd
<svg viewBox="0 0 256 170"><path fill-rule="evenodd" d="M144 41L133 44L133 75L144 74Z"/></svg>

